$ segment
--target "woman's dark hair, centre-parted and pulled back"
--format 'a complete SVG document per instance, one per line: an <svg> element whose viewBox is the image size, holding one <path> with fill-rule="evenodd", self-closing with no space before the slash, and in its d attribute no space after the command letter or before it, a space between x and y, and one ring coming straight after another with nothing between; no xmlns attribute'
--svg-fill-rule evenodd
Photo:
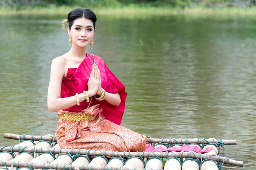
<svg viewBox="0 0 256 170"><path fill-rule="evenodd" d="M91 20L93 22L93 27L95 29L95 23L96 23L96 20L97 20L96 15L90 9L82 9L82 8L73 9L67 15L67 20L68 20L68 23L69 23L68 27L71 29L71 26L73 25L74 20L76 20L78 18L82 18L82 17Z"/></svg>

